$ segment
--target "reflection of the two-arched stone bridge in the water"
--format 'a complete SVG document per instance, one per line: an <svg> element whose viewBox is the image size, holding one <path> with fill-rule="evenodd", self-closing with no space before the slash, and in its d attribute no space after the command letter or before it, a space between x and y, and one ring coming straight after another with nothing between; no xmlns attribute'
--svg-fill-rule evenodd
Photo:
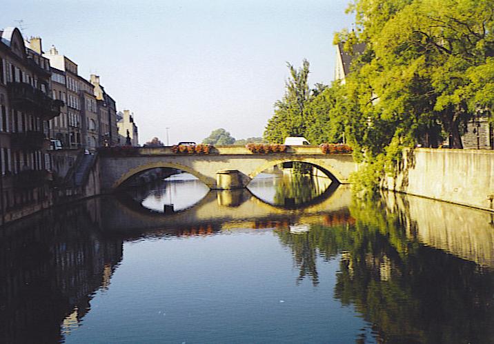
<svg viewBox="0 0 494 344"><path fill-rule="evenodd" d="M302 183L296 180L295 185L302 188ZM304 179L305 181L305 179ZM290 219L293 222L304 217L313 217L313 222L319 221L319 214L331 211L339 211L346 208L350 202L348 185L331 184L328 179L320 181L326 188L319 188L317 192L302 194L299 197L284 197L289 183L281 179L281 183L275 189L275 204L270 204L259 199L249 190L212 190L200 201L190 208L177 212L157 211L159 205L146 208L146 194L139 192L122 193L117 198L108 198L103 201L103 226L110 231L132 232L141 231L143 228L149 230L180 230L181 228L197 227L207 223L210 227L221 228L229 226L233 221L235 225L243 224L245 227L255 227L255 223L266 221L277 221L277 219ZM194 183L195 181L192 181ZM200 183L197 181L197 183ZM273 183L271 181L271 183ZM313 183L316 183L313 181ZM168 185L168 188L170 186ZM182 190L186 187L182 187ZM295 188L295 187L294 187ZM280 191L281 190L281 191ZM168 193L166 188L161 190L161 207L166 205ZM282 196L280 196L282 194ZM175 195L176 197L177 195ZM288 201L286 201L288 199ZM166 209L166 208L165 208Z"/></svg>

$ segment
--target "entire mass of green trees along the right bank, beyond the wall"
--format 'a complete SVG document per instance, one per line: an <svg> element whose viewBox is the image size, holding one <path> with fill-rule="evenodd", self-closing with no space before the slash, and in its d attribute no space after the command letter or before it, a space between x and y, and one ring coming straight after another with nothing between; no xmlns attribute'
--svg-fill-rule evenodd
<svg viewBox="0 0 494 344"><path fill-rule="evenodd" d="M400 146L462 148L468 121L494 106L494 0L355 0L355 29L335 43L351 54L364 43L344 83L307 83L296 70L275 103L264 137L282 142L348 141L366 161ZM394 152L394 153L393 153Z"/></svg>

